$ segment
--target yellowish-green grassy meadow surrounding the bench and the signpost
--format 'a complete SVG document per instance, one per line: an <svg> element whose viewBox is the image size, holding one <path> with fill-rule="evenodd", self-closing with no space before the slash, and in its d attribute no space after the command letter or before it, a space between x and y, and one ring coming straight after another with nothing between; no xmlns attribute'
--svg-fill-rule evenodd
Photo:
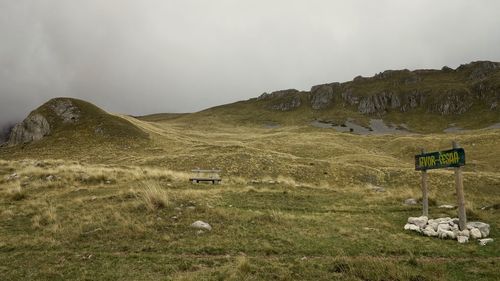
<svg viewBox="0 0 500 281"><path fill-rule="evenodd" d="M500 279L500 130L361 136L204 114L122 116L149 139L1 148L0 280ZM413 156L452 140L486 246L403 230L421 213L403 204L421 196ZM197 167L222 184L189 183ZM453 171L429 185L430 216L456 217L438 208L456 204Z"/></svg>

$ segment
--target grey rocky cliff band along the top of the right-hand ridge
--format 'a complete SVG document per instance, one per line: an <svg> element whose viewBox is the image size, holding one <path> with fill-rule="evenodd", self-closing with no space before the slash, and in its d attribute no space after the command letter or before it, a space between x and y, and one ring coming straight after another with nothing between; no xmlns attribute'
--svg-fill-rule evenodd
<svg viewBox="0 0 500 281"><path fill-rule="evenodd" d="M387 70L373 77L358 76L345 83L313 86L306 92L291 89L264 93L257 100L267 101L264 107L270 110L341 106L367 115L415 109L459 115L473 106L498 110L500 63L472 62L455 70Z"/></svg>

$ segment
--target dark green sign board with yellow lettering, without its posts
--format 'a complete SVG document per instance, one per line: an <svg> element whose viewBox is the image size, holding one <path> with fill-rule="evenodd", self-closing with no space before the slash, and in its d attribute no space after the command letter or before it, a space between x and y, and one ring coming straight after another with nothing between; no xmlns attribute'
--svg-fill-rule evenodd
<svg viewBox="0 0 500 281"><path fill-rule="evenodd" d="M463 148L415 155L415 170L417 171L460 167L464 165L465 151Z"/></svg>

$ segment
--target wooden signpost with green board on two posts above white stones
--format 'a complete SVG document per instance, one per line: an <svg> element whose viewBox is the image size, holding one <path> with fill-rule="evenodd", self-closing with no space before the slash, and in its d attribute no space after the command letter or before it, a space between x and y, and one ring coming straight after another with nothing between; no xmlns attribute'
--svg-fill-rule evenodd
<svg viewBox="0 0 500 281"><path fill-rule="evenodd" d="M427 170L450 168L455 170L455 187L458 202L458 225L460 230L466 229L467 216L465 214L464 186L462 177L462 166L465 165L465 151L459 148L457 142L453 142L453 149L446 151L425 153L415 155L415 170L422 171L422 207L423 215L429 215L429 198L427 189Z"/></svg>

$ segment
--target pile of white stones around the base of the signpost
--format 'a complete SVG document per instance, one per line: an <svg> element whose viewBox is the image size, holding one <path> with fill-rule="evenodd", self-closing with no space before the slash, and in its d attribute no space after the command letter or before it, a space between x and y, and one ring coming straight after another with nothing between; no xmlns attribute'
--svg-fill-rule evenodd
<svg viewBox="0 0 500 281"><path fill-rule="evenodd" d="M404 229L416 231L430 237L456 239L459 243L467 243L469 239L480 240L490 235L490 225L484 222L468 222L467 229L460 230L458 218L429 219L426 216L409 217ZM492 239L488 239L488 242L491 241ZM480 241L480 244L482 242Z"/></svg>

